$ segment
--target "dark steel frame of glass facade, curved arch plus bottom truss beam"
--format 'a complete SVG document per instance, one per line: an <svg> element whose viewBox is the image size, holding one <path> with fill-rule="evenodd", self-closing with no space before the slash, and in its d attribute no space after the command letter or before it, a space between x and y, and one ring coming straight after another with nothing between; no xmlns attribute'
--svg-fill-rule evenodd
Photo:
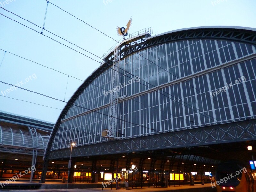
<svg viewBox="0 0 256 192"><path fill-rule="evenodd" d="M188 28L183 30L171 31L157 36L144 38L131 44L128 42L122 43L119 47L122 49L120 52L121 57L126 57L134 52L138 52L142 49L168 42L185 39L219 39L219 40L233 40L247 44L256 45L256 30L253 28L242 28L242 27L200 27L200 28ZM47 148L45 150L44 159L47 162L53 158L65 158L68 156L69 149L62 149L51 151L52 143L55 135L61 124L61 120L65 117L68 110L74 104L76 99L84 91L84 89L102 72L113 65L114 52L108 54L104 58L104 64L96 69L76 90L73 96L68 101L67 105L62 110L49 139ZM241 124L241 125L240 125ZM233 127L232 127L233 126ZM236 142L244 140L255 140L255 121L238 122L237 124L227 125L216 125L200 127L198 129L182 130L177 132L168 132L163 134L149 135L145 137L131 138L126 140L109 141L104 143L98 143L87 146L80 146L74 148L74 157L86 156L86 155L100 155L108 153L120 153L138 150L149 150L149 149L161 149L161 148L177 148L186 147L193 145L206 145L215 144L221 142ZM250 131L252 129L252 132ZM242 136L241 136L242 135ZM192 139L191 142L186 142L183 137ZM229 138L229 139L226 139ZM211 142L210 142L211 140ZM196 144L193 142L196 141ZM44 163L43 171L46 172L47 163ZM42 178L44 180L44 178Z"/></svg>

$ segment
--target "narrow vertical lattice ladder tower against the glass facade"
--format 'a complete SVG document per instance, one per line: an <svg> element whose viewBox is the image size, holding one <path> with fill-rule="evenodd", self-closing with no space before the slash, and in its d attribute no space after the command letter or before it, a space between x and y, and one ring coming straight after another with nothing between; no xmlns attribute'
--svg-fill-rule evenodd
<svg viewBox="0 0 256 192"><path fill-rule="evenodd" d="M110 111L109 111L109 127L107 137L110 139L116 139L116 126L117 126L117 110L118 110L118 97L119 90L117 89L119 83L119 63L120 63L120 47L116 46L114 51L114 63L112 67L112 90L113 93L110 95ZM114 92L114 89L116 90Z"/></svg>

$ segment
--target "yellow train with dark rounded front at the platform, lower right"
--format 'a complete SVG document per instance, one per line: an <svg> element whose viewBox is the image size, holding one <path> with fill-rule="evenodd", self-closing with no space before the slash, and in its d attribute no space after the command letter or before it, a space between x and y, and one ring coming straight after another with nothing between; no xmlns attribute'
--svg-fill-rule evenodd
<svg viewBox="0 0 256 192"><path fill-rule="evenodd" d="M256 192L256 172L237 161L226 161L217 166L214 183L217 192Z"/></svg>

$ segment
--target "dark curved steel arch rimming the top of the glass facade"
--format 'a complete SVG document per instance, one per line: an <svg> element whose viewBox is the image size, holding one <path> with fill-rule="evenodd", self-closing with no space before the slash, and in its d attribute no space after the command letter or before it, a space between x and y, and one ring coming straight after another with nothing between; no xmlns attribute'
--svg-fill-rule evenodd
<svg viewBox="0 0 256 192"><path fill-rule="evenodd" d="M238 41L246 44L252 44L256 46L256 29L255 28L246 28L246 27L234 27L234 26L208 26L208 27L195 27L195 28L185 28L180 30L174 30L159 34L157 36L151 36L146 39L140 39L133 43L128 43L127 41L122 42L119 46L121 48L121 57L126 57L132 53L139 52L141 49L146 49L151 46L158 44L164 44L177 40L189 40L189 39L219 39L219 40L232 40ZM44 153L45 162L49 158L49 153L52 148L52 143L55 138L55 135L60 127L61 120L67 114L69 108L73 105L75 100L79 95L84 91L84 89L102 72L107 68L111 67L113 64L113 54L114 52L109 53L104 58L104 64L97 68L76 90L72 95L64 109L62 110L59 118L57 119L53 130L51 132L47 147ZM46 169L46 163L44 163L43 171ZM41 181L44 178L42 177Z"/></svg>

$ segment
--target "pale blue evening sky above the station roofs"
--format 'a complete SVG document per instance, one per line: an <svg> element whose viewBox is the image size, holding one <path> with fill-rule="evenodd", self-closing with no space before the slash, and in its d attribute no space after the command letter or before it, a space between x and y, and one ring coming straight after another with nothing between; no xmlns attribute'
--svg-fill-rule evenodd
<svg viewBox="0 0 256 192"><path fill-rule="evenodd" d="M116 27L126 27L131 17L130 33L152 27L152 35L199 26L256 28L255 0L50 0L50 2L117 41L121 37L117 35ZM0 0L0 14L34 29L0 15L0 49L7 51L4 53L0 50L0 81L16 84L18 87L58 100L20 88L14 89L11 85L0 82L0 110L55 123L65 106L63 100L68 101L82 84L81 80L85 80L100 66L100 58L116 44L116 41L50 3L44 25L46 7L45 0ZM44 25L46 30L92 52L99 58L45 30L42 35L41 28L2 8L41 28Z"/></svg>

